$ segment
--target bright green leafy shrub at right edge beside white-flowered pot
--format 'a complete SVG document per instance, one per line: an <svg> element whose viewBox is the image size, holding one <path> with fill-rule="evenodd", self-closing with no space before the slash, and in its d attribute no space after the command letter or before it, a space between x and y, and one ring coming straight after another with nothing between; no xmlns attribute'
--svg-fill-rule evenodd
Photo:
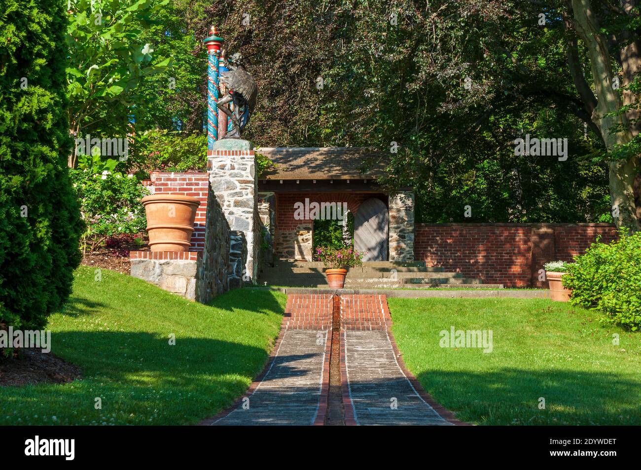
<svg viewBox="0 0 641 470"><path fill-rule="evenodd" d="M641 232L620 233L611 244L594 243L563 276L570 302L605 313L605 321L641 328Z"/></svg>

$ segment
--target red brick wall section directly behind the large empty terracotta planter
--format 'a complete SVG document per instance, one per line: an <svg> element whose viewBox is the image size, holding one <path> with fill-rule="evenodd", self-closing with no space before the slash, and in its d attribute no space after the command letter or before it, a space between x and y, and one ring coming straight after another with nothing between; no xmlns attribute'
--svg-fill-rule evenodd
<svg viewBox="0 0 641 470"><path fill-rule="evenodd" d="M201 205L196 211L194 233L192 233L189 251L202 251L204 249L204 226L207 214L207 191L209 189L208 173L171 173L160 172L156 174L153 182L154 194L172 192L183 196L194 196Z"/></svg>

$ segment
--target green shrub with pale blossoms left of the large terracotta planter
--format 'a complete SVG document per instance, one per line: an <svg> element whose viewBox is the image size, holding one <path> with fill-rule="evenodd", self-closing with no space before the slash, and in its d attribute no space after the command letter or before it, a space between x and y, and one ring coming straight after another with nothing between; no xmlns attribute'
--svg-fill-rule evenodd
<svg viewBox="0 0 641 470"><path fill-rule="evenodd" d="M145 209L140 200L149 194L131 175L113 171L117 161L100 161L99 156L79 155L78 169L71 178L87 226L82 235L83 250L94 251L108 237L145 230Z"/></svg>

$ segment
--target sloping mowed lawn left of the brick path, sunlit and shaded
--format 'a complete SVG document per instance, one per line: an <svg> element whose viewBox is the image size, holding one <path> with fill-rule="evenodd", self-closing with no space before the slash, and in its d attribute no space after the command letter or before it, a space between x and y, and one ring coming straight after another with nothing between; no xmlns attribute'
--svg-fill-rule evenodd
<svg viewBox="0 0 641 470"><path fill-rule="evenodd" d="M83 377L0 388L0 425L194 424L242 395L278 336L279 292L244 288L206 306L101 274L80 267L67 306L49 318L52 352Z"/></svg>

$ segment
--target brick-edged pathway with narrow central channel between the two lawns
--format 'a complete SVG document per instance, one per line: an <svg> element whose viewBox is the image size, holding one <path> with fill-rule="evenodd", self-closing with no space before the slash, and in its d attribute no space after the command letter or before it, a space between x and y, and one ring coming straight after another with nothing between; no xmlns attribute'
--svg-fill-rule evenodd
<svg viewBox="0 0 641 470"><path fill-rule="evenodd" d="M340 334L335 328L332 335L333 304L340 305ZM340 295L340 302L329 294L289 295L264 375L234 407L203 424L465 424L434 402L406 369L391 325L385 295ZM331 395L330 357L336 364Z"/></svg>

